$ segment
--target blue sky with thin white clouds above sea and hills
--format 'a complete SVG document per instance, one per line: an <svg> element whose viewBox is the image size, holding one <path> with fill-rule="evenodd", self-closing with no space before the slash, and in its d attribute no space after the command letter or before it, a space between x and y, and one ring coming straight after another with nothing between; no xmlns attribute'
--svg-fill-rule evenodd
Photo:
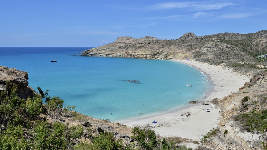
<svg viewBox="0 0 267 150"><path fill-rule="evenodd" d="M177 39L266 26L265 0L0 1L0 47L97 47L120 36Z"/></svg>

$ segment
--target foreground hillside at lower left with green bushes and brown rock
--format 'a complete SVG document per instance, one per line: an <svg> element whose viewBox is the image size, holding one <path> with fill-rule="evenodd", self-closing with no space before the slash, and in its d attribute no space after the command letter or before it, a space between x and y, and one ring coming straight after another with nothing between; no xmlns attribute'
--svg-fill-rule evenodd
<svg viewBox="0 0 267 150"><path fill-rule="evenodd" d="M28 86L28 73L0 66L0 150L189 150L149 128L95 119L64 100Z"/></svg>

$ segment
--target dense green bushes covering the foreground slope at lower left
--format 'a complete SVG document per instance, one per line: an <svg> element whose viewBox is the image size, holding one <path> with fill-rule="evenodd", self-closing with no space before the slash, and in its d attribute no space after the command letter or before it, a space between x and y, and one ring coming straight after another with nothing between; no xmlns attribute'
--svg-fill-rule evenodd
<svg viewBox="0 0 267 150"><path fill-rule="evenodd" d="M69 125L61 121L62 115L75 119L80 116L75 106L63 107L64 101L51 97L48 91L38 87L39 94L22 99L17 96L17 86L7 84L0 92L0 150L189 150L179 142L159 139L154 130L135 127L131 144L123 144L112 133L100 131L82 125ZM44 103L43 103L44 101ZM47 117L56 122L48 122ZM84 136L86 135L86 136ZM86 140L89 139L89 140Z"/></svg>

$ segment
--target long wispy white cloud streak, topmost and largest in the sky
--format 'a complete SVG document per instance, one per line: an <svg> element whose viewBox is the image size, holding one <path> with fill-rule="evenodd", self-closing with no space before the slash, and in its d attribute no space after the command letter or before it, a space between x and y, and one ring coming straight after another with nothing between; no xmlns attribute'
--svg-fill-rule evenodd
<svg viewBox="0 0 267 150"><path fill-rule="evenodd" d="M179 8L191 8L194 10L213 10L221 9L225 6L236 5L231 2L221 2L221 3L205 3L205 2L167 2L167 3L157 3L154 5L147 6L148 10L159 10L159 9L179 9Z"/></svg>

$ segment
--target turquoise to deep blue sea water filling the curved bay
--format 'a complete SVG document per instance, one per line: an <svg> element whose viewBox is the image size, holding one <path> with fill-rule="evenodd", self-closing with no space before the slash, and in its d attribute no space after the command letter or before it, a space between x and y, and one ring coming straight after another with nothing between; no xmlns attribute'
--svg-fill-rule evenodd
<svg viewBox="0 0 267 150"><path fill-rule="evenodd" d="M81 57L90 47L0 47L0 65L29 73L29 85L49 89L65 105L95 118L137 118L201 100L209 90L200 71L170 60ZM58 62L51 62L52 56ZM139 82L128 82L138 80ZM190 83L192 87L185 84ZM204 85L204 86L203 86Z"/></svg>

